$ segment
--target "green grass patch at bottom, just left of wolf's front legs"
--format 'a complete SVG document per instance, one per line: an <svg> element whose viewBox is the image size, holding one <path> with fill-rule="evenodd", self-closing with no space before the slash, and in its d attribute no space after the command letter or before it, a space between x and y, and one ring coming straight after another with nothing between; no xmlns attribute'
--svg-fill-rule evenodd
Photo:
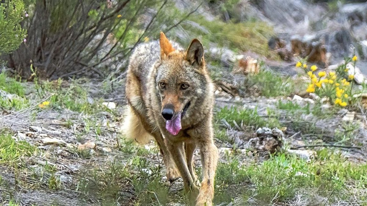
<svg viewBox="0 0 367 206"><path fill-rule="evenodd" d="M167 193L168 185L161 180L164 175L161 165L156 166L148 159L149 155L157 154L158 150L148 151L124 138L119 141L119 146L123 162L126 163L115 160L101 168L86 170L82 175L84 178L79 180L78 190L95 196L102 205L126 203L131 196L121 194L121 191L130 191L130 188L136 195L136 206L187 201L183 192Z"/></svg>

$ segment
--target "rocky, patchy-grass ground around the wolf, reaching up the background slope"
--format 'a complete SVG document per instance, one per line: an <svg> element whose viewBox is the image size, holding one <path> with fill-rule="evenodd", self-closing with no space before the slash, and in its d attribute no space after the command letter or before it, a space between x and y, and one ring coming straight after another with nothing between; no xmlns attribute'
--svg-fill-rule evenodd
<svg viewBox="0 0 367 206"><path fill-rule="evenodd" d="M366 3L220 2L205 1L167 34L201 37L206 47L220 154L215 205L367 205ZM298 60L313 56L317 71L334 71L352 54L359 102L339 107L305 92ZM136 146L119 131L125 73L93 75L21 83L0 75L1 204L188 205L181 180L166 181L156 144Z"/></svg>

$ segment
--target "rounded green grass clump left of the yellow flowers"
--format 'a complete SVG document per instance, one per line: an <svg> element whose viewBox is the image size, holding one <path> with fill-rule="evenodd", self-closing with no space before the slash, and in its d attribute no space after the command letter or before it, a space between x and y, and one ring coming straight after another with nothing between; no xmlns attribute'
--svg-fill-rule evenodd
<svg viewBox="0 0 367 206"><path fill-rule="evenodd" d="M257 86L260 95L265 97L288 96L295 91L295 82L290 77L282 77L264 69L258 74L250 74L246 81L248 88Z"/></svg>

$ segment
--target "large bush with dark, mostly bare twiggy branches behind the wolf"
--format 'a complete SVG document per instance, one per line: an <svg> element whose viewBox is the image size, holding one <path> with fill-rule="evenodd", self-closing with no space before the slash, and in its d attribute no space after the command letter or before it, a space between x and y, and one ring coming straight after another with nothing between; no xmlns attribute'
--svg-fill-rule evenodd
<svg viewBox="0 0 367 206"><path fill-rule="evenodd" d="M156 20L164 17L167 3L168 0L30 1L29 18L24 22L28 30L26 44L6 56L8 66L28 78L33 64L39 77L51 80L88 70L99 77L120 75L123 65L110 65L126 62L139 42L159 34L161 25L156 26Z"/></svg>

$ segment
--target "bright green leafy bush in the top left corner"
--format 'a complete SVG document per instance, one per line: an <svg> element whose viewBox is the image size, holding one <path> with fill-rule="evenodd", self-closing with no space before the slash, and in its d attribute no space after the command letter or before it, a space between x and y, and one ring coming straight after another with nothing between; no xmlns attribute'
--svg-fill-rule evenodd
<svg viewBox="0 0 367 206"><path fill-rule="evenodd" d="M22 0L5 0L0 3L0 55L14 51L26 36L21 21L25 16Z"/></svg>

